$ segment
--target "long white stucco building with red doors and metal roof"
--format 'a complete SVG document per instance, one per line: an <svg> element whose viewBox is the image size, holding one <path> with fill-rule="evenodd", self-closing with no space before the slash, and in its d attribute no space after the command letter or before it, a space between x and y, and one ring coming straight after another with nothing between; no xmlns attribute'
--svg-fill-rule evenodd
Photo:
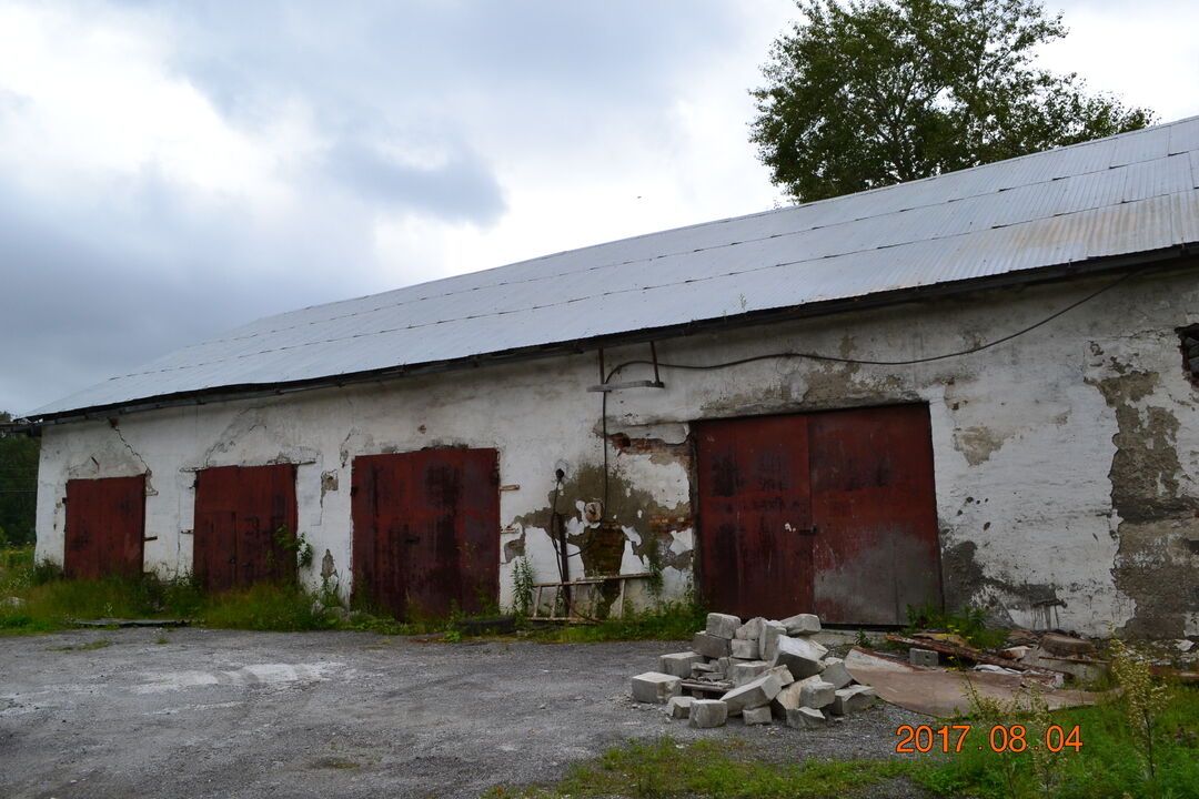
<svg viewBox="0 0 1199 799"><path fill-rule="evenodd" d="M1197 248L1199 117L259 320L30 414L38 556L1199 635Z"/></svg>

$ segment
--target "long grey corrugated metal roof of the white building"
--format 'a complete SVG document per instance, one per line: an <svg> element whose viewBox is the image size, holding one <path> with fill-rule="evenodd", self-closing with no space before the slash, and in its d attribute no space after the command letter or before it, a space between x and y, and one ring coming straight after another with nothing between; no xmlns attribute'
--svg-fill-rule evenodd
<svg viewBox="0 0 1199 799"><path fill-rule="evenodd" d="M1199 117L258 320L35 411L272 386L1199 241Z"/></svg>

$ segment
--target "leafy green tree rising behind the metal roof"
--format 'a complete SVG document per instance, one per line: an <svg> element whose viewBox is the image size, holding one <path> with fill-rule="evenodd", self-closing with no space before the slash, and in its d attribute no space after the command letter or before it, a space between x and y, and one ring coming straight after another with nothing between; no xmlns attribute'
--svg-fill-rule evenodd
<svg viewBox="0 0 1199 799"><path fill-rule="evenodd" d="M751 140L802 201L1145 127L1152 113L1035 65L1036 0L797 0L752 93Z"/></svg>

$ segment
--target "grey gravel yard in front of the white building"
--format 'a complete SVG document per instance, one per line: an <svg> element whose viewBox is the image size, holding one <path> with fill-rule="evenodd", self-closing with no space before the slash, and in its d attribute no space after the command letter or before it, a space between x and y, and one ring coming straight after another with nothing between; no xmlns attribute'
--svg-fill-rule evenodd
<svg viewBox="0 0 1199 799"><path fill-rule="evenodd" d="M896 757L896 726L927 721L880 706L821 731L692 730L628 698L632 674L682 648L201 629L0 638L0 797L478 797L556 780L629 738L880 758Z"/></svg>

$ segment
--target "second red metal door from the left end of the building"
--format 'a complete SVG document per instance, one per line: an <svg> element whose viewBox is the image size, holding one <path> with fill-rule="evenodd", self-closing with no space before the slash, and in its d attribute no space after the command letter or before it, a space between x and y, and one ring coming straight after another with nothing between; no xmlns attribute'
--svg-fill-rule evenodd
<svg viewBox="0 0 1199 799"><path fill-rule="evenodd" d="M219 466L195 476L193 569L207 591L296 577L295 466Z"/></svg>

